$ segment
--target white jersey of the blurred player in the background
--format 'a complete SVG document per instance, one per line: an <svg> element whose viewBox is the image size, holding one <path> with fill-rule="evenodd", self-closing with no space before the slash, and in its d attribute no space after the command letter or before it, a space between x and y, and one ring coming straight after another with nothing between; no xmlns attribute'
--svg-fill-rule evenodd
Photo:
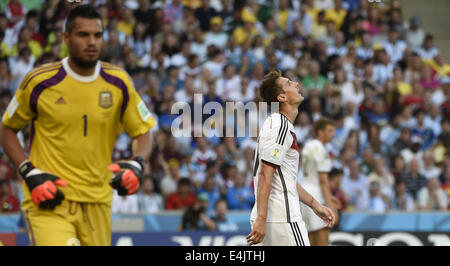
<svg viewBox="0 0 450 266"><path fill-rule="evenodd" d="M317 139L308 141L302 150L302 187L318 202L325 203L320 188L319 172L331 171L331 158L325 146Z"/></svg>

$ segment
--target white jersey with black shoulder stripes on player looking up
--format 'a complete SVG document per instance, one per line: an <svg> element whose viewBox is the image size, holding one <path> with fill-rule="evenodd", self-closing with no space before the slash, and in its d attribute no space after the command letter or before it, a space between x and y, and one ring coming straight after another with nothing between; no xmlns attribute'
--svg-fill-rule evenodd
<svg viewBox="0 0 450 266"><path fill-rule="evenodd" d="M277 166L272 178L270 190L267 222L300 222L300 200L297 193L297 171L299 160L297 140L294 126L286 116L280 113L270 115L259 131L258 143L255 150L253 180L255 198L258 198L258 175L261 163ZM253 206L250 216L255 221L257 202Z"/></svg>

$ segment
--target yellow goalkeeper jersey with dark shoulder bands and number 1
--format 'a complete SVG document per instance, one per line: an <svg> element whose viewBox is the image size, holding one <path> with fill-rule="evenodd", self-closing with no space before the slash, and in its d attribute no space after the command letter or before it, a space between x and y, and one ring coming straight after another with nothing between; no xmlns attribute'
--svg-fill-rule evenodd
<svg viewBox="0 0 450 266"><path fill-rule="evenodd" d="M146 133L155 120L128 74L98 62L92 76L70 69L68 58L29 72L3 115L20 130L31 122L30 161L67 181L66 199L111 204L108 170L118 133ZM23 208L30 204L24 183Z"/></svg>

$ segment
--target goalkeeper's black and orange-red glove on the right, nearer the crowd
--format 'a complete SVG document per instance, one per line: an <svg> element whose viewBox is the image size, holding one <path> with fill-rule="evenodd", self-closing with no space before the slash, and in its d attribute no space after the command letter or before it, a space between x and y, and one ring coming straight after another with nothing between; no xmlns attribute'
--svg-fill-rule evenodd
<svg viewBox="0 0 450 266"><path fill-rule="evenodd" d="M144 159L135 157L127 161L118 161L110 164L108 169L114 173L110 185L117 189L120 196L136 193L142 180Z"/></svg>

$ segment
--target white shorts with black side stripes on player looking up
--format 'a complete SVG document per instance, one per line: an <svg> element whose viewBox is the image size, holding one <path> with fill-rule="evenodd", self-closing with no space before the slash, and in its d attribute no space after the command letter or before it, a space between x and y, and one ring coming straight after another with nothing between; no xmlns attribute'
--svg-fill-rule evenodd
<svg viewBox="0 0 450 266"><path fill-rule="evenodd" d="M253 228L253 222L251 222ZM266 236L256 246L310 246L305 223L266 223Z"/></svg>

